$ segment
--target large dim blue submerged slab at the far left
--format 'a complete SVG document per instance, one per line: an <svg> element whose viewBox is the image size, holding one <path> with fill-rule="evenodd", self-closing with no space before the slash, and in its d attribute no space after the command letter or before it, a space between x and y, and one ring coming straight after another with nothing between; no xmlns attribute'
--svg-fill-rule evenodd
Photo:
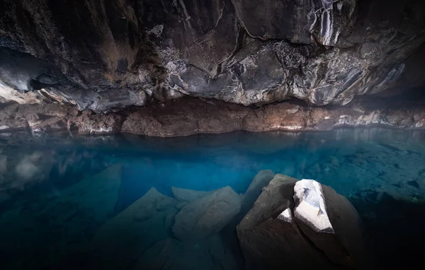
<svg viewBox="0 0 425 270"><path fill-rule="evenodd" d="M11 264L4 267L38 269L81 251L113 214L120 183L120 165L115 165L57 194L2 213L0 250L11 254ZM45 248L40 249L40 243Z"/></svg>

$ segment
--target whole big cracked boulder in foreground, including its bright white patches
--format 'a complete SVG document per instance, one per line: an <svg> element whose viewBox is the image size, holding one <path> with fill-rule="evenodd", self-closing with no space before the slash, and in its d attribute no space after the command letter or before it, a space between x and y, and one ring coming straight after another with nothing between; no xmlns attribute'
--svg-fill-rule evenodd
<svg viewBox="0 0 425 270"><path fill-rule="evenodd" d="M237 234L246 269L373 269L356 210L314 180L273 177Z"/></svg>

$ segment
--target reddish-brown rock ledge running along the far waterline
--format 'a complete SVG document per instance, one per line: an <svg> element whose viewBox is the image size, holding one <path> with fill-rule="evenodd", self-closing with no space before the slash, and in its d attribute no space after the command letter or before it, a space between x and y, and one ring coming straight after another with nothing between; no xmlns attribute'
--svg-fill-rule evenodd
<svg viewBox="0 0 425 270"><path fill-rule="evenodd" d="M383 100L361 100L344 107L307 107L280 102L261 108L219 100L182 98L120 113L79 112L70 105L8 104L0 110L0 132L33 134L75 131L79 134L131 133L147 136L188 136L230 131L305 131L336 127L425 129L424 104L392 106Z"/></svg>

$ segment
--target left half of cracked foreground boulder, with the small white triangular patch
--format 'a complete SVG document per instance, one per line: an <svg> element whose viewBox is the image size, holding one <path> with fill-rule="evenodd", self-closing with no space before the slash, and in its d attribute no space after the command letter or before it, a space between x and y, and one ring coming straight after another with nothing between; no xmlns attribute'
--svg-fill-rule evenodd
<svg viewBox="0 0 425 270"><path fill-rule="evenodd" d="M292 266L333 269L327 258L312 247L293 218L290 218L294 206L292 196L295 182L295 178L285 175L273 177L251 211L237 226L246 269L282 269Z"/></svg>

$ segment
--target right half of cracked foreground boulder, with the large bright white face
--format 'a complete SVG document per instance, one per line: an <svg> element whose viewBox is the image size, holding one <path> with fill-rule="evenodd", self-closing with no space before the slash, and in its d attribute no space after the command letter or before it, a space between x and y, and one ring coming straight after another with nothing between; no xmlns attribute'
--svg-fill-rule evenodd
<svg viewBox="0 0 425 270"><path fill-rule="evenodd" d="M294 216L305 235L332 263L372 268L361 232L361 219L351 203L331 187L300 180L294 187Z"/></svg>

